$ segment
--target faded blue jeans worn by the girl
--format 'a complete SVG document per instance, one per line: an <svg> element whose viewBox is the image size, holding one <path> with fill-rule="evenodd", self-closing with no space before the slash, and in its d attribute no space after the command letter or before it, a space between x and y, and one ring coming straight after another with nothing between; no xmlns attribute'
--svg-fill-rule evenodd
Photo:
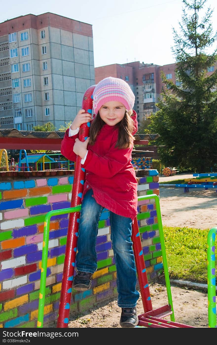
<svg viewBox="0 0 217 345"><path fill-rule="evenodd" d="M96 239L98 222L104 207L96 203L93 190L84 196L80 211L76 267L78 271L94 273L97 270ZM132 249L132 220L110 211L111 242L117 269L118 306L132 308L137 304L139 292L135 260Z"/></svg>

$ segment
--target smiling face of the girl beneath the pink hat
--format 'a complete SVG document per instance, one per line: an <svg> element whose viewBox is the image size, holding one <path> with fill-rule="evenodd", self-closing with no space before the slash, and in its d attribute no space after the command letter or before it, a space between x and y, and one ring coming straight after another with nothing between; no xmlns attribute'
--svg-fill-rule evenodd
<svg viewBox="0 0 217 345"><path fill-rule="evenodd" d="M123 119L125 110L122 103L111 101L101 106L99 115L107 125L115 126Z"/></svg>

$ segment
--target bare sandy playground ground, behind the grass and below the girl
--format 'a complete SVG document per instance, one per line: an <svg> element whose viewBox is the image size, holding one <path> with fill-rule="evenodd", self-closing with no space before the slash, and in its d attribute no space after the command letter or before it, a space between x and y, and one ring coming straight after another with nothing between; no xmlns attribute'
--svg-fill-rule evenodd
<svg viewBox="0 0 217 345"><path fill-rule="evenodd" d="M191 178L192 174L161 176L160 181L177 178ZM189 190L183 188L160 187L160 207L163 226L187 226L207 229L217 226L217 193L214 190ZM168 303L164 284L149 286L153 309ZM208 299L206 290L194 290L188 286L171 284L175 321L194 327L208 328ZM137 304L138 315L144 313L141 295ZM70 316L69 328L121 328L119 325L121 308L117 300L108 300L99 307L83 314ZM170 320L170 316L165 317Z"/></svg>

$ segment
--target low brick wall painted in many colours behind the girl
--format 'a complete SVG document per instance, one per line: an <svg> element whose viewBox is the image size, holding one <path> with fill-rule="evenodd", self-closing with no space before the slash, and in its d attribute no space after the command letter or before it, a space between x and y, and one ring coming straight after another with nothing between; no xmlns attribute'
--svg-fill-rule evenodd
<svg viewBox="0 0 217 345"><path fill-rule="evenodd" d="M59 174L59 175L58 175ZM39 304L44 218L48 211L70 207L73 171L2 172L0 178L0 327L36 327ZM158 171L138 170L138 196L159 195ZM149 280L162 270L155 205L138 205L138 223ZM68 215L51 218L48 245L44 327L57 323L65 257ZM109 211L104 209L97 237L98 269L90 290L73 290L70 313L117 296L116 267L110 239Z"/></svg>

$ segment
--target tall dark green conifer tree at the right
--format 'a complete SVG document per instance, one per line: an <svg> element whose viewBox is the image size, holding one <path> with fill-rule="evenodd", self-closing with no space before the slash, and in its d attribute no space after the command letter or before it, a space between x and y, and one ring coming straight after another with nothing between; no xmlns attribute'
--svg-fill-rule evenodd
<svg viewBox="0 0 217 345"><path fill-rule="evenodd" d="M159 133L158 145L162 161L168 166L210 171L217 163L217 70L207 75L217 61L217 49L207 49L216 41L208 8L199 20L207 0L183 0L180 33L173 28L176 57L176 85L167 80L160 109L151 117L146 132ZM178 81L178 83L177 83Z"/></svg>

